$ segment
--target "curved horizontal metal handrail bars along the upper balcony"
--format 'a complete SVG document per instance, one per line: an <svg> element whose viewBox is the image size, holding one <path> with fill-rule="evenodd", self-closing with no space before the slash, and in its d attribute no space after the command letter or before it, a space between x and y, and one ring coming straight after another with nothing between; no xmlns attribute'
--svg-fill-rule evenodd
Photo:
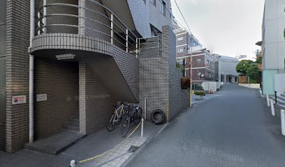
<svg viewBox="0 0 285 167"><path fill-rule="evenodd" d="M124 47L127 52L129 52L129 53L133 52L137 55L138 54L138 43L137 43L138 37L136 36L136 34L133 33L132 31L130 31L130 29L126 26L126 24L124 24L122 22L122 20L119 19L119 17L117 17L117 15L115 15L109 8L103 6L101 3L98 3L94 0L88 0L88 1L91 2L92 4L95 4L96 6L100 6L101 8L103 8L103 10L105 10L105 12L107 14L105 14L105 13L103 14L101 12L98 12L98 10L93 10L92 8L82 7L82 6L74 5L74 4L68 4L68 3L48 3L47 4L46 0L44 0L43 7L39 8L40 10L43 10L43 17L38 17L38 21L39 21L38 22L38 29L37 29L38 34L50 32L48 28L51 26L75 27L75 28L78 28L78 32L76 34L80 33L80 28L81 29L89 29L89 30L101 33L102 35L108 36L108 38L111 39L112 44L113 44L113 41L115 41L117 43L117 45L122 45L121 48ZM78 15L61 13L57 10L55 10L55 12L53 12L53 13L48 14L47 8L50 8L52 6L66 6L66 7L71 7L71 8L78 8ZM80 16L80 14L79 14L80 10L96 13L96 14L100 15L100 17L102 16L107 22L110 22L110 25L105 24L104 22L100 22L100 20L97 20L97 19L92 19L89 17L85 17L83 15ZM111 15L111 18L108 17L108 15ZM79 22L78 22L78 24L73 24L73 23L68 24L68 22L66 22L67 24L57 24L58 22L54 22L56 24L48 24L47 23L47 17L57 17L57 16L64 16L67 18L73 17L73 18L77 18L78 21L79 21L79 19L82 19L82 20L88 20L88 21L90 21L90 23L93 22L96 24L101 24L102 26L105 26L106 28L110 29L110 34L106 33L105 31L101 31L100 29L93 29L90 27L80 25ZM67 20L72 21L74 19L67 19ZM49 22L49 20L48 20L48 22ZM117 32L115 29L122 31L122 33ZM59 31L59 29L54 29L54 31ZM113 34L115 34L115 36ZM125 44L116 38L122 38L122 40L125 41ZM129 47L129 45L131 46L131 48ZM135 49L135 51L133 51L133 49Z"/></svg>

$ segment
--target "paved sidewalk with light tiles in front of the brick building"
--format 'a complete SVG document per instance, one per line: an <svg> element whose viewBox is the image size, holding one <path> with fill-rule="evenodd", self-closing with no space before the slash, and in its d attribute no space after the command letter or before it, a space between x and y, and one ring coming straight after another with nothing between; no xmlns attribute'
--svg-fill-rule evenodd
<svg viewBox="0 0 285 167"><path fill-rule="evenodd" d="M163 125L153 125L150 122L145 122L144 138L140 138L140 127L133 133L130 138L122 138L119 134L119 127L112 132L108 132L103 127L98 132L89 134L86 138L78 141L64 152L57 156L49 154L42 154L30 150L20 150L13 154L7 152L0 152L0 166L1 167L34 167L34 166L49 166L49 167L63 167L69 166L70 161L82 161L89 159L103 152L108 152L109 157L100 157L100 159L93 159L77 166L119 166L132 153L126 153L131 145L140 146L147 138L154 136L159 132ZM131 124L129 134L133 131L135 125ZM122 154L124 154L122 156ZM121 157L119 157L121 156ZM111 158L112 157L112 158Z"/></svg>

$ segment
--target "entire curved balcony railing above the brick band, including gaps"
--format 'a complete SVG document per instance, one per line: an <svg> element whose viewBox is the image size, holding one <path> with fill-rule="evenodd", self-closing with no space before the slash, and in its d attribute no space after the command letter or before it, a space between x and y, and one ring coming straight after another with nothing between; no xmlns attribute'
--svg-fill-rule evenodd
<svg viewBox="0 0 285 167"><path fill-rule="evenodd" d="M60 0L58 0L60 2ZM72 3L73 2L73 3ZM138 37L111 10L94 0L47 3L38 8L37 34L73 33L108 41L138 56Z"/></svg>

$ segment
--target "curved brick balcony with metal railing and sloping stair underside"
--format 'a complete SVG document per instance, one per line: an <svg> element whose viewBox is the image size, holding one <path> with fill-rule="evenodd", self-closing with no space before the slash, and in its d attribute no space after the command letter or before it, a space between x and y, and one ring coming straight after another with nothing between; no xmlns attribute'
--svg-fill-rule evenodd
<svg viewBox="0 0 285 167"><path fill-rule="evenodd" d="M138 101L135 30L94 0L43 0L36 13L32 54L54 61L86 62L117 100ZM73 58L59 60L62 55Z"/></svg>

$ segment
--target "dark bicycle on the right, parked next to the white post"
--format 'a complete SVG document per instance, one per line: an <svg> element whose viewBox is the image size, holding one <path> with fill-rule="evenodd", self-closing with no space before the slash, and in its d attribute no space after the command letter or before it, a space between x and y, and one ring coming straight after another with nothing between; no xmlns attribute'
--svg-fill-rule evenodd
<svg viewBox="0 0 285 167"><path fill-rule="evenodd" d="M124 137L129 132L129 127L131 122L137 125L142 119L142 108L138 104L134 104L133 107L126 111L126 116L124 116L121 126L120 132L121 136Z"/></svg>

